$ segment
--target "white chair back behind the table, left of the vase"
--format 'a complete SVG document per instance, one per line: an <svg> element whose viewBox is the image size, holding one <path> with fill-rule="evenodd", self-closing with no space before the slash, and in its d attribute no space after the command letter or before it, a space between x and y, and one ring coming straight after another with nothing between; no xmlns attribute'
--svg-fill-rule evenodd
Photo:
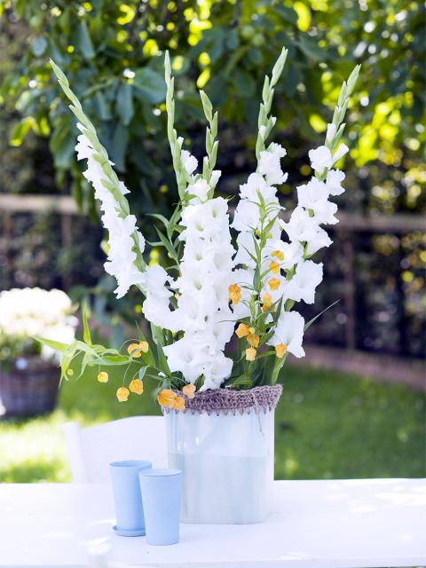
<svg viewBox="0 0 426 568"><path fill-rule="evenodd" d="M167 468L166 430L162 416L130 416L97 426L63 426L71 473L75 483L109 481L109 463L148 460Z"/></svg>

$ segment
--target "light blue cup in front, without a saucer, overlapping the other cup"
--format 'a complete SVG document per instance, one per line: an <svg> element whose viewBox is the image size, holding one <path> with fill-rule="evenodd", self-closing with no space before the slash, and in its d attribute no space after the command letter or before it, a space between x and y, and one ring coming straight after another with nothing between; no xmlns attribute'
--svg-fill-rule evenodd
<svg viewBox="0 0 426 568"><path fill-rule="evenodd" d="M144 501L146 542L155 546L179 541L180 469L144 469L139 471Z"/></svg>

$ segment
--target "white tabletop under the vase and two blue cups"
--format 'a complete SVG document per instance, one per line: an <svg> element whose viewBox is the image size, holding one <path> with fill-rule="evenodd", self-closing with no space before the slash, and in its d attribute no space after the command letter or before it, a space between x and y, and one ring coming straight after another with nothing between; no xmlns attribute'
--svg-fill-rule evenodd
<svg viewBox="0 0 426 568"><path fill-rule="evenodd" d="M261 525L181 525L177 545L152 547L112 533L107 485L3 484L0 566L88 566L88 551L100 549L108 566L122 567L426 564L426 480L277 481L275 491L275 512Z"/></svg>

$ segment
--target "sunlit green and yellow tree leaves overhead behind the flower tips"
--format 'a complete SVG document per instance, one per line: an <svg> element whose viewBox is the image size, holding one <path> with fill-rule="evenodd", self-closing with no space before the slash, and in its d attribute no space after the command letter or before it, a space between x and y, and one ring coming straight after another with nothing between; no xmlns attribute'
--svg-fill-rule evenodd
<svg viewBox="0 0 426 568"><path fill-rule="evenodd" d="M304 143L318 139L342 78L362 63L356 110L349 117L356 122L351 158L358 167L375 162L381 171L403 170L402 182L410 170L414 183L403 206L419 204L417 164L425 138L422 4L0 0L0 9L7 27L24 20L29 28L27 48L1 91L4 100L17 100L21 117L12 144L18 146L30 130L48 137L59 184L69 181L80 203L90 203L91 192L75 162L75 123L59 100L50 57L75 86L139 210L164 209L176 191L171 170L164 169L170 158L162 53L170 50L177 75L177 130L190 131L196 154L203 129L195 79L223 117L218 165L234 174L252 166L261 79L286 45L289 65L274 113L277 130L297 143L291 157L304 157Z"/></svg>

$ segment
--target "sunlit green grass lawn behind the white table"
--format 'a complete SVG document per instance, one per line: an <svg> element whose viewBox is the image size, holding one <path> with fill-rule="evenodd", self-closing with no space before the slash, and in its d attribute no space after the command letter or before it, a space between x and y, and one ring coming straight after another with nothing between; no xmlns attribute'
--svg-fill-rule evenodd
<svg viewBox="0 0 426 568"><path fill-rule="evenodd" d="M402 385L286 366L276 413L277 478L422 477L425 398ZM27 421L0 422L0 481L69 481L61 424L159 414L149 391L118 403L118 383L91 372L64 383L58 409ZM130 456L131 457L131 456Z"/></svg>

